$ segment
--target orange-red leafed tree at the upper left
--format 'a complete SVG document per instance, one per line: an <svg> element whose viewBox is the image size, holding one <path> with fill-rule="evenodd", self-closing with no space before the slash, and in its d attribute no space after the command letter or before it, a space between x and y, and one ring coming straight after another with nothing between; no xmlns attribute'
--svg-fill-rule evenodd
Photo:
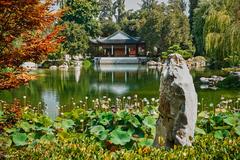
<svg viewBox="0 0 240 160"><path fill-rule="evenodd" d="M62 41L54 22L60 12L50 12L52 0L0 1L0 68L24 61L39 62Z"/></svg>

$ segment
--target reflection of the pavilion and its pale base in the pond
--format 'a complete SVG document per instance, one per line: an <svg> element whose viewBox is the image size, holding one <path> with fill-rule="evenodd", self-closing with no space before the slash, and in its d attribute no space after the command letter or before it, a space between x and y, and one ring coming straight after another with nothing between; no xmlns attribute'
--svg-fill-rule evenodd
<svg viewBox="0 0 240 160"><path fill-rule="evenodd" d="M137 87L136 81L145 74L146 66L143 65L95 65L98 73L97 82L91 89L97 92L109 92L123 95L132 88Z"/></svg>

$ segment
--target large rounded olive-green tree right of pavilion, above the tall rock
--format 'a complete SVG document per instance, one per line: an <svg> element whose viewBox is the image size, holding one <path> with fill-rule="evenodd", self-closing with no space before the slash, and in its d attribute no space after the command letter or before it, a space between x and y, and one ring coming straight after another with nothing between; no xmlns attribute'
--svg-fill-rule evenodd
<svg viewBox="0 0 240 160"><path fill-rule="evenodd" d="M178 44L184 49L192 48L190 27L180 1L168 5L153 5L149 11L143 10L142 26L139 31L151 52L163 52ZM156 49L155 49L156 48Z"/></svg>

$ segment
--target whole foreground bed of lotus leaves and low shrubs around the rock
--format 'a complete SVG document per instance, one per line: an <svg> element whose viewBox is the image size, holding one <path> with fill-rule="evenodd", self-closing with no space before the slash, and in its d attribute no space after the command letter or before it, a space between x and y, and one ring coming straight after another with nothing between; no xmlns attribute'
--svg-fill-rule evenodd
<svg viewBox="0 0 240 160"><path fill-rule="evenodd" d="M240 158L240 113L235 108L238 106L200 112L193 146L173 149L152 147L158 117L157 107L152 105L114 110L102 106L75 108L55 120L17 101L1 107L1 158Z"/></svg>

